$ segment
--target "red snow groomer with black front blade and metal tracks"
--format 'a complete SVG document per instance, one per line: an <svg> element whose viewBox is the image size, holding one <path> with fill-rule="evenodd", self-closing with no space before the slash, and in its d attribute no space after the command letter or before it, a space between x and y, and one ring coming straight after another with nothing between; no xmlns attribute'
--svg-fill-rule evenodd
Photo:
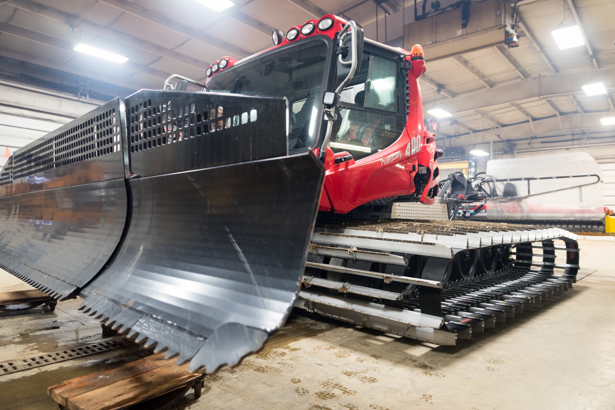
<svg viewBox="0 0 615 410"><path fill-rule="evenodd" d="M435 201L423 50L334 15L272 39L206 84L171 76L15 151L0 267L207 373L260 349L293 303L453 344L571 286L561 229L344 217Z"/></svg>

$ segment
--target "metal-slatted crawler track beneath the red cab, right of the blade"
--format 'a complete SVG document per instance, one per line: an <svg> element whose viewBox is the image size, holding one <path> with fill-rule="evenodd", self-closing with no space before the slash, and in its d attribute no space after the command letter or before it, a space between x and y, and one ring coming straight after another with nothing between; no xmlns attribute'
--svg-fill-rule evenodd
<svg viewBox="0 0 615 410"><path fill-rule="evenodd" d="M555 262L555 250L565 251L565 263ZM576 235L563 229L401 219L319 223L295 306L454 345L567 291L578 268Z"/></svg>

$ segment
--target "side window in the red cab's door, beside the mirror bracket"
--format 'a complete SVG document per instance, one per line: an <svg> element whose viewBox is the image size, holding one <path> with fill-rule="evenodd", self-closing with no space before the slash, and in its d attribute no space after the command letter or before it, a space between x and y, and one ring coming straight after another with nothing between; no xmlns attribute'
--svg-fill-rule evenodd
<svg viewBox="0 0 615 410"><path fill-rule="evenodd" d="M329 143L333 152L348 151L358 160L397 141L403 130L397 74L394 60L363 53L359 73L341 92L341 121Z"/></svg>

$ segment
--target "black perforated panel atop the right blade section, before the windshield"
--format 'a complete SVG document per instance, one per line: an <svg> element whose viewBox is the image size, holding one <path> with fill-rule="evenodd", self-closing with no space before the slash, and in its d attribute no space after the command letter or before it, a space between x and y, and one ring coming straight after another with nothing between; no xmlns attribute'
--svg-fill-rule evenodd
<svg viewBox="0 0 615 410"><path fill-rule="evenodd" d="M126 106L130 171L140 176L288 153L283 98L141 90Z"/></svg>

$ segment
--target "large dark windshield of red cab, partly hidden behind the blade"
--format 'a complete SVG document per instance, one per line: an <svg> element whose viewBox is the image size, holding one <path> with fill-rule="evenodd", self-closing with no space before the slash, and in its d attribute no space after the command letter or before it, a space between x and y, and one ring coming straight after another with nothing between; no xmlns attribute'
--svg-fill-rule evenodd
<svg viewBox="0 0 615 410"><path fill-rule="evenodd" d="M267 97L286 97L288 149L309 148L318 131L327 44L312 41L280 50L231 67L213 76L207 89L213 92Z"/></svg>

